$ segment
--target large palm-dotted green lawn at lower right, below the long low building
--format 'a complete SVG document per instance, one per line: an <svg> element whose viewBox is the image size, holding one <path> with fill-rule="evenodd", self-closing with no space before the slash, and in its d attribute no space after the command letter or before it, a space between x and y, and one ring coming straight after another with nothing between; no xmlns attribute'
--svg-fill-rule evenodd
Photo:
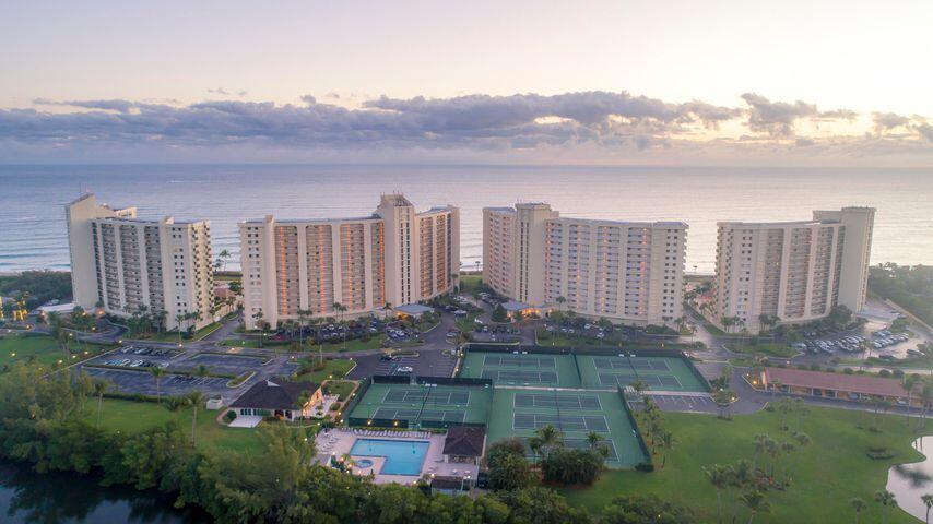
<svg viewBox="0 0 933 524"><path fill-rule="evenodd" d="M849 500L859 497L869 503L862 522L881 522L879 504L874 493L884 489L887 469L895 463L922 460L910 443L919 437L913 431L916 421L905 426L900 416L882 417L881 433L857 428L862 416L859 412L811 407L803 419L802 430L813 443L799 453L795 480L787 491L769 490L770 514L759 514L756 523L854 522L854 512ZM753 438L767 433L778 442L788 441L790 434L780 431L780 415L760 412L755 415L735 416L733 420L720 420L711 415L673 414L664 415L676 444L669 453L664 469L654 473L635 471L606 472L591 488L560 489L568 500L592 511L600 511L614 497L624 495L656 493L663 499L688 505L700 522L716 522L716 490L705 479L701 466L734 463L739 458L752 460ZM796 417L789 418L792 430L796 430ZM926 430L933 432L933 427ZM885 446L894 451L895 457L887 461L871 460L865 455L870 446ZM660 465L660 458L656 463ZM723 496L731 504L734 496ZM744 515L744 516L743 516ZM891 511L891 523L917 522L907 513ZM740 522L748 519L744 508Z"/></svg>

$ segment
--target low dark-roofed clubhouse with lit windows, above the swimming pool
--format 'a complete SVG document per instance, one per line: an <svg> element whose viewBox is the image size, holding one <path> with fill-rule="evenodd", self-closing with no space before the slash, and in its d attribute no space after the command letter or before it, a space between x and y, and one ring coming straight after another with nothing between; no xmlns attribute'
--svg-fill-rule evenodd
<svg viewBox="0 0 933 524"><path fill-rule="evenodd" d="M276 417L285 420L310 418L316 406L323 404L320 384L261 380L231 404L240 417Z"/></svg>

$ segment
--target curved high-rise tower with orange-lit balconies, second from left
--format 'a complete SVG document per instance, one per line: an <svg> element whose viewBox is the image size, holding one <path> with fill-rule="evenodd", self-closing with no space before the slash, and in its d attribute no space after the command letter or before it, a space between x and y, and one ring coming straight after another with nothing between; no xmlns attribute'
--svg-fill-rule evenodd
<svg viewBox="0 0 933 524"><path fill-rule="evenodd" d="M448 293L460 271L460 212L416 213L382 195L371 216L246 221L239 225L247 326L358 315ZM338 306L345 311L338 311Z"/></svg>

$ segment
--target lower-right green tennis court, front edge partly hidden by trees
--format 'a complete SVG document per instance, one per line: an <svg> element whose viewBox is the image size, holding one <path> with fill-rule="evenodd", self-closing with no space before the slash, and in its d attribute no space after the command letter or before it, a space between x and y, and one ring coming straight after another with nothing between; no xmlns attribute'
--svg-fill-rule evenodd
<svg viewBox="0 0 933 524"><path fill-rule="evenodd" d="M509 437L528 439L536 429L551 425L563 433L565 445L587 448L587 436L592 431L602 437L600 445L609 450L609 465L635 466L647 457L626 409L617 392L497 388L488 442Z"/></svg>

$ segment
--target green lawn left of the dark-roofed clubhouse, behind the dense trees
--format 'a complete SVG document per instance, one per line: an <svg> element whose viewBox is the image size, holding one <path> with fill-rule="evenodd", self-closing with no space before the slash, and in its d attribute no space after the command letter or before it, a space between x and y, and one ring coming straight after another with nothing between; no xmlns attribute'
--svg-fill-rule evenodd
<svg viewBox="0 0 933 524"><path fill-rule="evenodd" d="M96 401L87 402L85 419L91 424L96 420ZM256 429L227 428L215 421L217 414L219 412L211 412L203 407L198 409L196 442L199 448L236 452L260 451ZM170 412L164 405L152 402L104 398L104 407L101 412L101 427L111 431L138 432L163 426L169 420L177 421L185 434L191 434L190 407Z"/></svg>

